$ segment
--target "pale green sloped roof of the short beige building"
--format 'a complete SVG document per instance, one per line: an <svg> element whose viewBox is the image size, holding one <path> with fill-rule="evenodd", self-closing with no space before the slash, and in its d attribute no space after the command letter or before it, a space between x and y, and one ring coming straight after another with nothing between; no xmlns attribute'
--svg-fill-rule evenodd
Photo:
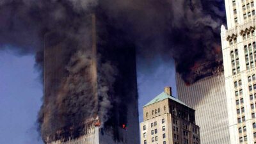
<svg viewBox="0 0 256 144"><path fill-rule="evenodd" d="M157 97L155 97L154 99L152 99L150 102L148 102L145 106L148 106L150 104L154 104L156 102L159 102L161 100L164 100L164 99L171 99L171 100L174 100L175 102L178 102L179 104L182 104L184 106L187 106L188 108L190 108L187 104L185 104L184 102L180 101L179 99L173 97L172 95L168 95L167 93L165 92L162 92L160 93L159 95L157 95ZM143 107L145 107L143 106ZM191 108L192 109L192 108Z"/></svg>

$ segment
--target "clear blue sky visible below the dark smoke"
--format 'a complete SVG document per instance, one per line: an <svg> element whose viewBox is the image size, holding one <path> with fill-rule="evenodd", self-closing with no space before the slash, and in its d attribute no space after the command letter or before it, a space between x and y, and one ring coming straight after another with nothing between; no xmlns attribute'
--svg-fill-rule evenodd
<svg viewBox="0 0 256 144"><path fill-rule="evenodd" d="M172 86L176 95L173 61L157 57L154 63L137 65L139 113L147 102ZM36 118L42 105L42 84L33 55L0 51L0 143L42 144Z"/></svg>

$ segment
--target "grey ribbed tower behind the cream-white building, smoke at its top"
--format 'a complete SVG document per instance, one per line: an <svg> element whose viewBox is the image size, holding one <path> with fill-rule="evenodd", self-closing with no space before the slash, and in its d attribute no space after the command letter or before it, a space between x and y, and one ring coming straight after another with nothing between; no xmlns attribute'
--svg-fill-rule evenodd
<svg viewBox="0 0 256 144"><path fill-rule="evenodd" d="M203 72L204 70L200 67L205 67L205 65L199 66L196 69L200 70L195 71ZM211 74L201 76L201 79L193 84L185 83L180 74L177 73L178 99L195 109L195 119L196 124L200 127L202 144L229 144L224 74L222 70L219 72L216 70L207 71Z"/></svg>

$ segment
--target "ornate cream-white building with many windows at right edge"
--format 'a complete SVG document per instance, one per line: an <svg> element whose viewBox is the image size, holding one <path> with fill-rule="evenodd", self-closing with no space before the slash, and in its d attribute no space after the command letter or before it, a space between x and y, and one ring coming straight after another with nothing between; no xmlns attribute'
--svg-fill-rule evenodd
<svg viewBox="0 0 256 144"><path fill-rule="evenodd" d="M230 142L256 143L256 44L254 0L225 0L221 27Z"/></svg>

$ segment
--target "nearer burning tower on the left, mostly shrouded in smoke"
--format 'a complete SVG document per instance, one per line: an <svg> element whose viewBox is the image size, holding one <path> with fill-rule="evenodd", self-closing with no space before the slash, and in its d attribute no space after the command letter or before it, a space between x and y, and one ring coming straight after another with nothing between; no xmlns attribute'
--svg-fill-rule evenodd
<svg viewBox="0 0 256 144"><path fill-rule="evenodd" d="M83 50L77 52L75 56L78 58L73 56L74 62L68 66L63 58L72 55L69 50L72 42L55 33L45 35L44 105L41 112L44 143L140 143L135 49L127 43L115 45L111 39L104 44L97 42L100 34L96 31L99 25L95 23L95 15L92 15L91 24L90 49L84 50L89 56L83 54ZM56 36L60 38L56 40ZM85 67L81 68L81 65ZM111 74L102 71L110 71L115 79L104 79ZM85 82L82 81L79 88L86 91L63 90L79 86L81 79ZM68 81L72 83L66 86Z"/></svg>

